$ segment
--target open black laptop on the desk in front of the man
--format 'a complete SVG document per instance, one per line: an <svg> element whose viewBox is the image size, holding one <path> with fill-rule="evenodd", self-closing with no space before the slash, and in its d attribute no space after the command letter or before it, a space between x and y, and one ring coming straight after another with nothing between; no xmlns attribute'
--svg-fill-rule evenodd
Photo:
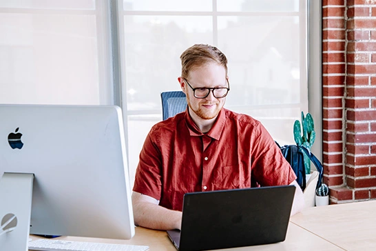
<svg viewBox="0 0 376 251"><path fill-rule="evenodd" d="M181 231L167 234L180 251L284 241L294 193L294 185L187 193Z"/></svg>

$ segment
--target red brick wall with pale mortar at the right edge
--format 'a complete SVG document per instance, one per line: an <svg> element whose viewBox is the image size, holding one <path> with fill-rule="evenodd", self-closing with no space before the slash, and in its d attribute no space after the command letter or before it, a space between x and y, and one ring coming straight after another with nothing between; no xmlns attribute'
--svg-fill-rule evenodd
<svg viewBox="0 0 376 251"><path fill-rule="evenodd" d="M376 0L323 0L322 26L324 183L376 199Z"/></svg>

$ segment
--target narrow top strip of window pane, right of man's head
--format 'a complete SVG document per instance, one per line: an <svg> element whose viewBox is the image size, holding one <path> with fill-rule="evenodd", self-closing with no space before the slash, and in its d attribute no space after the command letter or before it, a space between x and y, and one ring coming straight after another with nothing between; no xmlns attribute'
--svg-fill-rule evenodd
<svg viewBox="0 0 376 251"><path fill-rule="evenodd" d="M301 0L217 0L218 11L294 12Z"/></svg>

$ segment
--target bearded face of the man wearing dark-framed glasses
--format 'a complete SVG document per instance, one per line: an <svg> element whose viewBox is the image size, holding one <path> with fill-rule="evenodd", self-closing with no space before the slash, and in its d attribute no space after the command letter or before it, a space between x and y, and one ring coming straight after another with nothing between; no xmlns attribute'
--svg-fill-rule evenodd
<svg viewBox="0 0 376 251"><path fill-rule="evenodd" d="M192 88L228 88L226 70L217 63L207 63L204 66L195 68L189 72L187 81ZM226 98L217 99L210 91L204 99L194 97L194 91L185 83L184 79L179 78L183 92L187 95L187 102L190 110L200 119L214 119L224 106ZM194 114L191 114L194 115Z"/></svg>

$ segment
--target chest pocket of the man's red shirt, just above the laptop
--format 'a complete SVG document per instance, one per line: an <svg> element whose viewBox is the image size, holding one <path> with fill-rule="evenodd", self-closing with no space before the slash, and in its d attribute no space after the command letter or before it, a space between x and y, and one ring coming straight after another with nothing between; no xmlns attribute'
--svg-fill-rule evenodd
<svg viewBox="0 0 376 251"><path fill-rule="evenodd" d="M214 190L227 190L235 188L247 188L248 176L244 172L241 165L226 165L216 168L213 172L213 188Z"/></svg>

